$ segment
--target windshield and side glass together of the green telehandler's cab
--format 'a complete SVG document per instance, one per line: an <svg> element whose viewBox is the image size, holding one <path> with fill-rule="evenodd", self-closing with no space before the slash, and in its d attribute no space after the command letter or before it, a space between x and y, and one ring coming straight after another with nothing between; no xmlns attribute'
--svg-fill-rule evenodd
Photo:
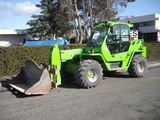
<svg viewBox="0 0 160 120"><path fill-rule="evenodd" d="M94 48L103 43L108 46L110 54L126 52L130 46L130 27L127 24L109 23L95 26L87 46Z"/></svg>

